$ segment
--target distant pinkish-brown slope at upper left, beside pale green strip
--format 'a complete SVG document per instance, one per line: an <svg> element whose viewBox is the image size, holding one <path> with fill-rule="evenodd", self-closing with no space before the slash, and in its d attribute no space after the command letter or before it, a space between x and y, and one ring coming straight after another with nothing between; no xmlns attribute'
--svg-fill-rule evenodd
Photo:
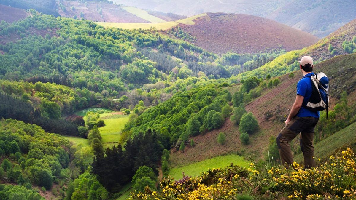
<svg viewBox="0 0 356 200"><path fill-rule="evenodd" d="M57 4L59 5L59 1L57 1ZM83 12L83 18L91 21L148 23L148 21L121 9L118 5L108 4L105 2L86 2L87 5L85 5L84 3L78 1L62 1L62 4L66 7L66 12L58 9L58 13L63 17L72 18L74 15L77 15L78 19L80 19L80 13ZM75 10L71 9L72 6L74 6ZM101 15L97 10L98 8L101 8L102 10Z"/></svg>

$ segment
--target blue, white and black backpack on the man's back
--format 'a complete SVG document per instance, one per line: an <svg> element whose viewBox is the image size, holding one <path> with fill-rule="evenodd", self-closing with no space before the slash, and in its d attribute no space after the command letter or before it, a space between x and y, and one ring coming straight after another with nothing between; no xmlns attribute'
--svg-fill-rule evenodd
<svg viewBox="0 0 356 200"><path fill-rule="evenodd" d="M311 111L326 109L326 118L328 118L329 79L323 72L310 76L310 79L312 80L313 91L305 107Z"/></svg>

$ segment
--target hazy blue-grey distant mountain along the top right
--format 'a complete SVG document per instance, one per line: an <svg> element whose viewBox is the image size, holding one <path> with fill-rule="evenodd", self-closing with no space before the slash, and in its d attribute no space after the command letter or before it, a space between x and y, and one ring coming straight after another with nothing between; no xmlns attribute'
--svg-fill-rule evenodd
<svg viewBox="0 0 356 200"><path fill-rule="evenodd" d="M266 17L324 37L356 16L350 0L114 0L116 3L192 16L204 12L241 13Z"/></svg>

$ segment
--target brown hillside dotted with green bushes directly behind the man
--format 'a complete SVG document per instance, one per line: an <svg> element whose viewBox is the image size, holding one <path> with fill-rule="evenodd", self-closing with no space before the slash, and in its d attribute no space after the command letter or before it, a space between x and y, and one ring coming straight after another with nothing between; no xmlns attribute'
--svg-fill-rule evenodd
<svg viewBox="0 0 356 200"><path fill-rule="evenodd" d="M337 56L315 65L316 72L325 72L330 79L330 107L334 107L337 96L346 90L349 94L347 99L350 105L355 104L356 66L342 68L346 63L356 63L356 53ZM284 126L285 115L295 99L296 86L302 77L300 71L294 72L295 78L289 78L288 74L279 77L281 84L276 88L267 89L257 99L246 106L247 112L252 112L257 118L260 130L250 136L250 144L242 145L240 141L239 127L233 125L229 119L224 125L211 132L193 137L194 147L188 147L184 152L172 152L170 162L172 167L194 163L215 156L229 153L243 153L256 159L263 158L263 152L268 147L269 138L276 137ZM347 74L347 78L345 77ZM239 86L239 85L237 85ZM270 112L272 117L266 119L266 113ZM219 132L226 134L226 143L220 146L217 142ZM190 140L190 139L189 139Z"/></svg>

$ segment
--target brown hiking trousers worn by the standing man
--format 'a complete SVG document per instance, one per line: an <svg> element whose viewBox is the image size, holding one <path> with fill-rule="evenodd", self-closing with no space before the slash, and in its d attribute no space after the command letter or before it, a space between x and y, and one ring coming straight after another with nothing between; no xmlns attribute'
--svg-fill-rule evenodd
<svg viewBox="0 0 356 200"><path fill-rule="evenodd" d="M290 150L291 142L299 133L300 148L304 156L304 168L315 167L314 161L314 127L318 123L315 117L294 117L277 136L277 147L281 156L282 164L289 168L293 164L293 154Z"/></svg>

